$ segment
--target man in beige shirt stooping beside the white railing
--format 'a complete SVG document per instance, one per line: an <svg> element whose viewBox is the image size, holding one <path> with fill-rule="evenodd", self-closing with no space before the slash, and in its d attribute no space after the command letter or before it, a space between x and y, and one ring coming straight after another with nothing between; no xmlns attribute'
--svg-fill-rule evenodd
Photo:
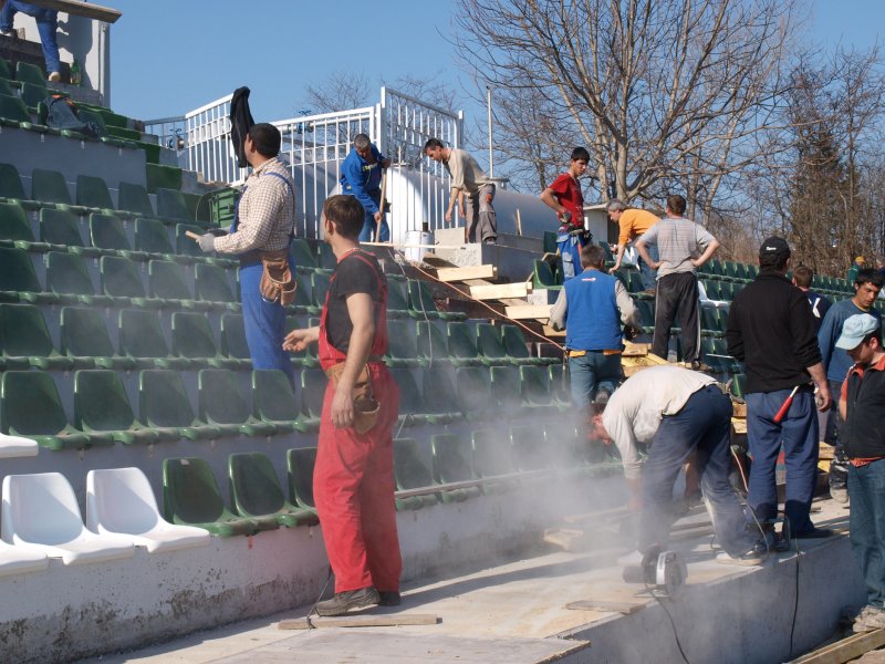
<svg viewBox="0 0 885 664"><path fill-rule="evenodd" d="M470 156L457 147L446 147L439 138L430 138L424 145L424 154L442 164L451 176L451 196L446 208L446 221L451 221L455 203L458 201L465 218L465 242L494 245L498 240L498 224L494 218L494 184Z"/></svg>

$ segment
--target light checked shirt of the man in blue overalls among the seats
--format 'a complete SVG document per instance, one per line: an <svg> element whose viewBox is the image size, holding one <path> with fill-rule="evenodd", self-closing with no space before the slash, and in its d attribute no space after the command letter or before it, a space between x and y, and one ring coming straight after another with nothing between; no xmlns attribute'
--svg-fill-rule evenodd
<svg viewBox="0 0 885 664"><path fill-rule="evenodd" d="M295 225L294 187L290 189L269 173L279 173L292 185L289 167L278 157L256 168L246 178L246 190L240 197L237 232L216 238L216 251L244 253L289 247L289 234Z"/></svg>

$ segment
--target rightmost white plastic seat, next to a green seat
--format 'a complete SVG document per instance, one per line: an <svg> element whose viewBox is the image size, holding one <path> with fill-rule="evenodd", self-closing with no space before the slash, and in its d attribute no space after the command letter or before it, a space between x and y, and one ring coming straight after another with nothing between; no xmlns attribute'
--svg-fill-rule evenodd
<svg viewBox="0 0 885 664"><path fill-rule="evenodd" d="M166 521L145 474L138 468L90 470L86 475L86 526L98 535L128 537L150 553L209 543L209 532Z"/></svg>

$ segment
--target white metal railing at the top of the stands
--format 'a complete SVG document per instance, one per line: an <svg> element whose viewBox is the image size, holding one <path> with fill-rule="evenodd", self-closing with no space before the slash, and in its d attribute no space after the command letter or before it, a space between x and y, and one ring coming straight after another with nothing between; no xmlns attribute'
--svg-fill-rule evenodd
<svg viewBox="0 0 885 664"><path fill-rule="evenodd" d="M206 180L241 184L248 170L237 166L230 144L230 101L227 95L191 111L184 118L166 118L184 126L187 168ZM299 189L296 228L302 237L320 236L323 201L339 184L341 163L356 134L368 134L393 162L388 175L388 224L394 238L409 230L436 230L456 225L444 219L448 204L448 174L424 155L428 138L459 147L464 113L446 111L394 90L382 87L374 106L275 121L282 134L281 156L290 164ZM166 132L154 121L152 133ZM147 128L147 127L146 127ZM180 134L180 126L171 127ZM159 134L163 141L163 134ZM165 145L165 143L164 143ZM398 177L403 176L403 177Z"/></svg>

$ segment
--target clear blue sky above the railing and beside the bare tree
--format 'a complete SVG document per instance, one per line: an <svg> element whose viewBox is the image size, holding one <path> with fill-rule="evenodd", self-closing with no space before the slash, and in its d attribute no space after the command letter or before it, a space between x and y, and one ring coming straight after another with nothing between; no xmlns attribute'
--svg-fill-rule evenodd
<svg viewBox="0 0 885 664"><path fill-rule="evenodd" d="M143 120L181 115L248 85L258 121L303 107L303 91L335 71L378 86L409 74L442 76L482 120L454 58L450 0L98 0L123 17L111 29L112 106ZM868 48L884 0L812 0L808 38Z"/></svg>

